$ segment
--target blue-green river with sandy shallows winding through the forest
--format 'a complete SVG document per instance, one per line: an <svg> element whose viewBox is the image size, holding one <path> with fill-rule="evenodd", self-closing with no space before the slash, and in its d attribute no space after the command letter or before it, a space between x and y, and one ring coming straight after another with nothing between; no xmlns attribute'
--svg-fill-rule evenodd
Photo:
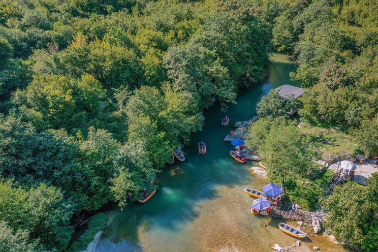
<svg viewBox="0 0 378 252"><path fill-rule="evenodd" d="M285 55L272 54L265 81L239 92L238 103L229 105L229 125L255 116L256 102L271 89L298 86L289 81L293 70L295 65ZM193 133L192 144L184 149L187 160L158 173L159 189L148 202L129 203L124 211L116 206L106 211L109 224L96 252L267 252L273 251L273 243L295 243L295 238L278 229L279 220L251 214L254 198L243 188L262 190L268 181L250 171L258 163L241 164L230 157L233 146L222 140L232 127L221 126L220 106L211 107L204 116L203 130ZM200 141L207 146L204 155L198 155ZM313 246L323 252L344 251L325 236L310 234L301 251Z"/></svg>

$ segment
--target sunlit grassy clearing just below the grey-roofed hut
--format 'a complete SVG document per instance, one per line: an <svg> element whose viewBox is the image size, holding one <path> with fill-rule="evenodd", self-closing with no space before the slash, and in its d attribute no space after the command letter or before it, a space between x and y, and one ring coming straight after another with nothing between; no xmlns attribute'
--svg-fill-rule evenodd
<svg viewBox="0 0 378 252"><path fill-rule="evenodd" d="M351 143L347 128L330 127L329 125L311 126L307 123L298 125L302 134L310 135L322 145L323 159L354 153L355 145Z"/></svg>

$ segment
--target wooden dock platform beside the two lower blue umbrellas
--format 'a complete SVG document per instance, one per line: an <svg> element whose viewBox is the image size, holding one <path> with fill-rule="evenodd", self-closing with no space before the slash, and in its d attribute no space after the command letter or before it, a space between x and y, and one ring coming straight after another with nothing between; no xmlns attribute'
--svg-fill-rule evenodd
<svg viewBox="0 0 378 252"><path fill-rule="evenodd" d="M260 211L260 215L269 216L273 218L292 220L292 221L310 222L312 220L310 212L303 211L300 209L296 209L295 213L291 212L291 205L278 204L277 208L275 209L274 201L271 201L270 206L272 208L272 211L270 211L269 215L268 215L268 211L266 210Z"/></svg>

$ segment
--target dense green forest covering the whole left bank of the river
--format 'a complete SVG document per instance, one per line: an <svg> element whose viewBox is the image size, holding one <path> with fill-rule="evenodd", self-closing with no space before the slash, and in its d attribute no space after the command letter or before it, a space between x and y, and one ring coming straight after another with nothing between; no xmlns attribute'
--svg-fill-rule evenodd
<svg viewBox="0 0 378 252"><path fill-rule="evenodd" d="M204 109L258 82L272 47L261 8L1 0L0 251L65 251L83 212L153 186Z"/></svg>

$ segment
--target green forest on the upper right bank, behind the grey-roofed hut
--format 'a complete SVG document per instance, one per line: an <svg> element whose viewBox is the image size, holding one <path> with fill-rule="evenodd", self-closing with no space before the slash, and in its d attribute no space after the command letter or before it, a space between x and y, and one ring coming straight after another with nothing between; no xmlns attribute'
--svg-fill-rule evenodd
<svg viewBox="0 0 378 252"><path fill-rule="evenodd" d="M376 3L303 2L287 7L273 32L276 47L298 57L291 78L309 89L299 115L310 123L359 127L378 112ZM299 16L292 15L295 6L302 10Z"/></svg>

